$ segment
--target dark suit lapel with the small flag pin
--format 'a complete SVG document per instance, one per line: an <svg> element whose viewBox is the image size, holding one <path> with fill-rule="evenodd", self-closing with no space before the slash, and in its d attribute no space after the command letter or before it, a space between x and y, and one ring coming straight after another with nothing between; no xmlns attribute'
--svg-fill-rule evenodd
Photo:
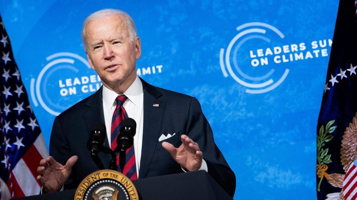
<svg viewBox="0 0 357 200"><path fill-rule="evenodd" d="M162 115L164 114L165 102L160 101L162 96L154 86L140 78L144 92L144 125L142 135L142 150L140 160L139 179L145 178L154 155L155 147L159 138ZM153 106L159 104L159 107Z"/></svg>

